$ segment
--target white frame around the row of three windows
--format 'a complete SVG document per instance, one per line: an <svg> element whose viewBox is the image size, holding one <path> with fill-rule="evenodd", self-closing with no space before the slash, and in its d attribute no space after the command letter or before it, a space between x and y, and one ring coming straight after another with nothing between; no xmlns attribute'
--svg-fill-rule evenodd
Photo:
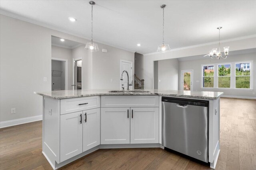
<svg viewBox="0 0 256 170"><path fill-rule="evenodd" d="M250 63L250 88L236 88L236 64L244 64L244 63ZM230 88L219 88L218 87L218 65L221 64L230 64ZM214 87L203 87L204 84L204 66L214 66ZM244 65L242 65L244 66ZM247 65L246 65L247 67ZM253 89L253 61L234 61L234 62L229 62L229 63L211 63L211 64L201 64L201 89L212 89L212 90L218 90L218 89L223 89L223 90L249 90L252 91Z"/></svg>

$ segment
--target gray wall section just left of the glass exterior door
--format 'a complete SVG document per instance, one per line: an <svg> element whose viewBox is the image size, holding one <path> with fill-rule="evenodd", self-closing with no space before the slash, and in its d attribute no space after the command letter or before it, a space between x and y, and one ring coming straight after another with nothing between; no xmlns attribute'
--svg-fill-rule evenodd
<svg viewBox="0 0 256 170"><path fill-rule="evenodd" d="M158 89L178 90L178 59L158 61Z"/></svg>

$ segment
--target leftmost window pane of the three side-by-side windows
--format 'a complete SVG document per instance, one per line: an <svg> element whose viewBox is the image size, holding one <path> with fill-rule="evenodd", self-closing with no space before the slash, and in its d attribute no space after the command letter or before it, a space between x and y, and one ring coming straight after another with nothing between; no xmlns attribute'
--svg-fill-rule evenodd
<svg viewBox="0 0 256 170"><path fill-rule="evenodd" d="M203 87L214 87L214 66L203 66Z"/></svg>

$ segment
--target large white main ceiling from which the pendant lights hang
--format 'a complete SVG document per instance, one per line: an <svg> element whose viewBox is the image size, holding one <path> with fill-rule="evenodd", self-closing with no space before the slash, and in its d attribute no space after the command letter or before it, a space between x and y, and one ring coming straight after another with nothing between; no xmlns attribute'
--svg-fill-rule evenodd
<svg viewBox="0 0 256 170"><path fill-rule="evenodd" d="M156 52L162 43L162 9L165 42L171 49L256 34L256 1L232 0L95 0L94 40L136 51ZM90 39L91 6L88 0L1 0L1 13ZM75 17L72 23L68 17ZM141 46L137 47L137 43Z"/></svg>

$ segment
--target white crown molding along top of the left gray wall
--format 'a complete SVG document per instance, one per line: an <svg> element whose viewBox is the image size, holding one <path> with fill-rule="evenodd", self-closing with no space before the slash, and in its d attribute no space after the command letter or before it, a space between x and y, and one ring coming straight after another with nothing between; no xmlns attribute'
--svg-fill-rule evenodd
<svg viewBox="0 0 256 170"><path fill-rule="evenodd" d="M33 23L35 25L39 25L39 26L42 26L42 27L46 27L46 28L49 28L49 29L53 29L55 31L60 31L62 33L67 33L69 35L73 35L73 36L76 36L76 37L80 37L80 38L83 38L83 39L86 39L88 41L91 41L90 38L88 37L85 37L83 35L78 35L78 34L75 34L75 33L71 33L69 31L66 31L64 29L60 29L60 28L57 28L57 27L54 27L52 25L49 25L47 23L42 23L42 22L39 22L39 21L35 21L35 20L32 20L30 18L27 18L27 17L24 17L24 16L20 16L20 15L17 15L17 14L13 14L11 12L7 12L5 10L1 10L0 9L0 14L1 15L4 15L4 16L8 16L8 17L11 17L11 18L15 18L15 19L18 19L18 20L22 20L22 21L26 21L28 23ZM132 53L135 53L135 51L132 51L132 50L129 50L129 49L125 49L125 48L122 48L122 47L118 47L118 46L115 46L115 45L112 45L112 44L109 44L109 43L106 43L106 42L103 42L103 41L98 41L98 40L95 40L94 42L96 43L101 43L103 45L108 45L108 46L111 46L111 47L115 47L115 48L118 48L118 49L121 49L121 50L124 50L124 51L129 51L129 52L132 52ZM64 47L65 48L65 47Z"/></svg>

